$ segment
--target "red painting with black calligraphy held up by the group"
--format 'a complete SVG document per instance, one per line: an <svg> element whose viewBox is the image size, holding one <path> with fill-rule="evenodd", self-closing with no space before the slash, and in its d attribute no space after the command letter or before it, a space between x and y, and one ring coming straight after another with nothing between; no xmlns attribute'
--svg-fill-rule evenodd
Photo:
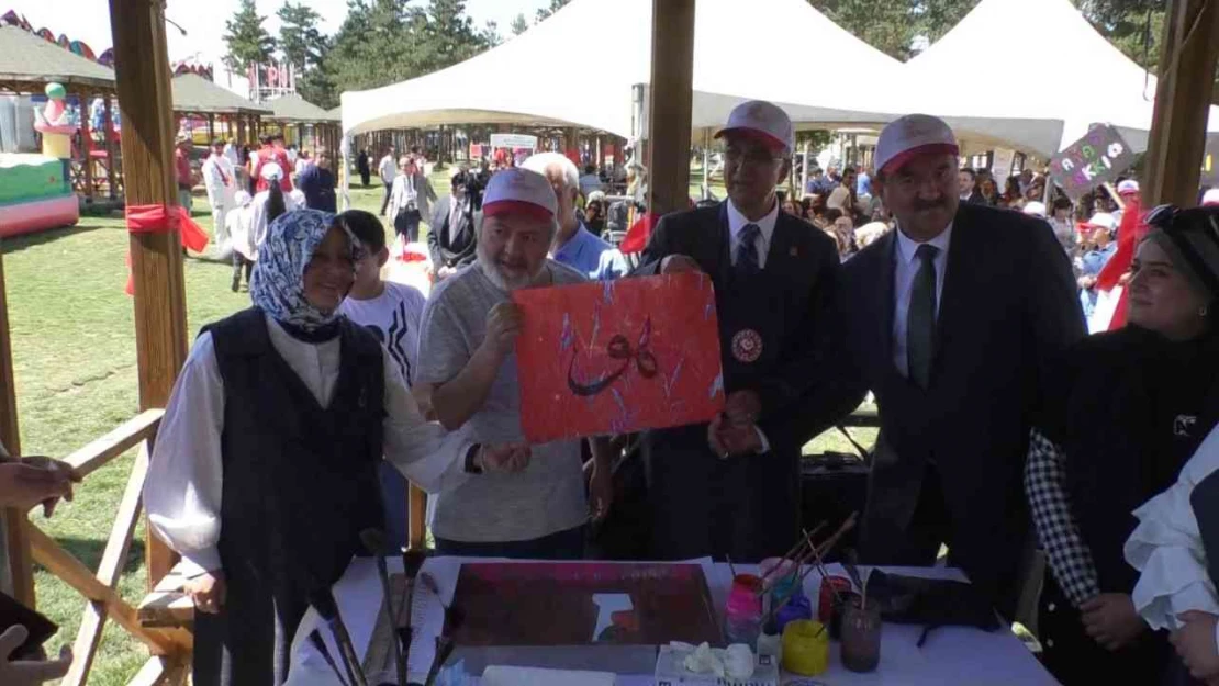
<svg viewBox="0 0 1219 686"><path fill-rule="evenodd" d="M706 274L521 289L521 424L531 444L709 422L724 408Z"/></svg>

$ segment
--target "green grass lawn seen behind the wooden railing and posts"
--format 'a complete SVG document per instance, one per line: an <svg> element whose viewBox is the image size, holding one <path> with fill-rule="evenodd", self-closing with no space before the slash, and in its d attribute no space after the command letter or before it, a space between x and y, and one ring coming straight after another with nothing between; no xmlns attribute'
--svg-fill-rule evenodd
<svg viewBox="0 0 1219 686"><path fill-rule="evenodd" d="M436 191L447 194L449 174L433 174ZM696 190L692 185L691 190ZM382 188L351 190L355 207L377 212ZM723 189L717 189L720 197ZM195 199L195 216L211 230L206 200ZM386 234L393 236L393 229ZM79 225L2 242L9 318L22 452L62 457L129 419L138 409L135 329L127 280L128 235L118 218L84 217ZM232 266L187 260L187 318L190 335L221 317L247 307L249 295L229 290ZM857 433L864 445L874 440ZM816 450L850 452L839 436L826 435ZM60 506L35 525L55 537L90 569L101 559L115 511L134 453L89 476L76 501ZM145 592L144 525L135 534L119 590L133 606ZM80 625L83 598L44 570L35 574L38 609L60 625L50 652L71 645ZM126 684L147 659L143 645L107 623L90 675L93 686Z"/></svg>

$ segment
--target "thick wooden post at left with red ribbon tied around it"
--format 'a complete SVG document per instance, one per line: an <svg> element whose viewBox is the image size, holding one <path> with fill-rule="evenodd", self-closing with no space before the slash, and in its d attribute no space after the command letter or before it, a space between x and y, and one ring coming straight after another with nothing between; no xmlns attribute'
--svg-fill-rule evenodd
<svg viewBox="0 0 1219 686"><path fill-rule="evenodd" d="M165 38L165 4L110 0L115 73L123 113L127 203L177 211L173 106ZM187 302L177 230L130 235L135 286L135 351L140 409L165 407L187 361ZM149 587L173 567L172 551L147 528Z"/></svg>

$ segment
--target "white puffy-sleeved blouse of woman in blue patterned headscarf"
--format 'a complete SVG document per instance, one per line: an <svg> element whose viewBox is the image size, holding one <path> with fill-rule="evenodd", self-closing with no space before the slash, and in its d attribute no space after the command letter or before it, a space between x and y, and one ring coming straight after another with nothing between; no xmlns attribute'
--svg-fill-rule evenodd
<svg viewBox="0 0 1219 686"><path fill-rule="evenodd" d="M307 344L267 317L271 345L323 407L339 380L340 340ZM473 445L464 431L445 434L424 422L394 359L384 350L385 458L429 492L460 486L469 476L464 456ZM210 333L195 341L165 409L144 484L149 524L182 553L197 575L221 568L224 383ZM250 523L256 525L256 523Z"/></svg>

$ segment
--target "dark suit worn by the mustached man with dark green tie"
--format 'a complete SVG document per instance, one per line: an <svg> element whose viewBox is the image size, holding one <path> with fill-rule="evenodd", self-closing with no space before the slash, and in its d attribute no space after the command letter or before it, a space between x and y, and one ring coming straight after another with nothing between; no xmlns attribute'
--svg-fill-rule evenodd
<svg viewBox="0 0 1219 686"><path fill-rule="evenodd" d="M845 396L875 394L887 448L873 463L863 547L885 562L896 541L884 539L909 525L934 461L953 563L1006 593L1028 532L1022 472L1029 430L1057 358L1085 335L1070 264L1045 222L962 203L924 391L894 364L896 242L890 233L856 255L839 290Z"/></svg>

